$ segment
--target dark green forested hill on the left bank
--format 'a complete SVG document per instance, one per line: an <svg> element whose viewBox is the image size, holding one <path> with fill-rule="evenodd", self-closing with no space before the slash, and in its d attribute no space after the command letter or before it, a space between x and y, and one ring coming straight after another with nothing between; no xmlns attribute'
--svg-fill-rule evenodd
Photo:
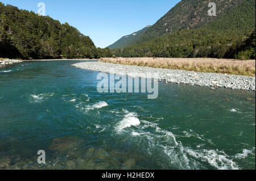
<svg viewBox="0 0 256 181"><path fill-rule="evenodd" d="M108 48L97 49L88 36L68 23L0 2L0 57L99 58L110 53Z"/></svg>

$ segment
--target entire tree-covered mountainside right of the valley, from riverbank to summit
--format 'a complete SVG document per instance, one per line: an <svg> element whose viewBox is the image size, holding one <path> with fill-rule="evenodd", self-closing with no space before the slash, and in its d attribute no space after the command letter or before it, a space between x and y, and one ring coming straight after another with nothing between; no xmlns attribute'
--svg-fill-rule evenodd
<svg viewBox="0 0 256 181"><path fill-rule="evenodd" d="M183 0L129 46L113 49L113 56L255 59L255 0L228 2L218 2L229 6L219 5L226 8L212 19L201 12L205 2Z"/></svg>

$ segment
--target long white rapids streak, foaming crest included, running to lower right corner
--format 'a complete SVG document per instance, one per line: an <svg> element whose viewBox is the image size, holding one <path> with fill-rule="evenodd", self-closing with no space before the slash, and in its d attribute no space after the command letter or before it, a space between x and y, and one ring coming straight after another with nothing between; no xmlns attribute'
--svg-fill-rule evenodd
<svg viewBox="0 0 256 181"><path fill-rule="evenodd" d="M142 142L142 139L148 141L147 151L148 154L155 153L155 150L158 151L159 159L167 159L163 162L163 165L171 167L179 167L180 169L208 169L205 165L212 166L214 169L220 170L237 170L240 169L238 163L233 159L236 158L245 158L248 154L253 154L250 150L243 150L243 153L234 155L227 155L224 151L214 150L214 149L204 149L205 144L199 144L195 149L184 146L181 141L177 140L179 136L174 133L162 129L159 127L159 124L139 120L137 113L135 112L126 112L126 115L123 117L123 120L117 124L115 128L117 132L124 131L125 128L135 126L135 129L129 129L131 139L137 140L138 144ZM152 128L155 129L155 132L146 132L146 130ZM184 136L181 137L196 137L197 139L209 142L213 145L211 140L208 140L203 135L200 135L192 130L184 131ZM160 152L159 152L160 151Z"/></svg>

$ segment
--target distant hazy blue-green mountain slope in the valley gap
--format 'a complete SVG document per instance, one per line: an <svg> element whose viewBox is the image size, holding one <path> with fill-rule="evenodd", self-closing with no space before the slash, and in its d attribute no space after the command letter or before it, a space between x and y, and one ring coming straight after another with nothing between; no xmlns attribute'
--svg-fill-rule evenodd
<svg viewBox="0 0 256 181"><path fill-rule="evenodd" d="M138 39L139 36L141 36L150 26L147 26L143 28L142 30L139 30L137 32L131 33L130 35L123 36L121 39L117 40L115 43L112 45L109 45L109 49L114 49L114 48L122 48L122 47L127 47L133 41Z"/></svg>

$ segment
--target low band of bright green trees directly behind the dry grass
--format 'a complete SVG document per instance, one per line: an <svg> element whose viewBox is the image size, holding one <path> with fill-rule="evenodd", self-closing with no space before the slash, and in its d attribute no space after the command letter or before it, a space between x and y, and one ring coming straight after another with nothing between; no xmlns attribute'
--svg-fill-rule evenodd
<svg viewBox="0 0 256 181"><path fill-rule="evenodd" d="M249 36L240 37L231 32L228 35L207 28L182 30L133 47L115 49L113 53L117 57L255 59L255 30Z"/></svg>

